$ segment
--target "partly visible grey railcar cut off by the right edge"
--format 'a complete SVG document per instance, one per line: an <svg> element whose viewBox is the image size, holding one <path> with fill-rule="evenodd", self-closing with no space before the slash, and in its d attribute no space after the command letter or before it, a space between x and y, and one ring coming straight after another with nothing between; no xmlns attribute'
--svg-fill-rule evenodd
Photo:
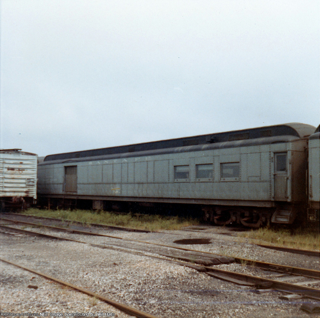
<svg viewBox="0 0 320 318"><path fill-rule="evenodd" d="M308 220L319 220L320 210L320 126L308 144Z"/></svg>

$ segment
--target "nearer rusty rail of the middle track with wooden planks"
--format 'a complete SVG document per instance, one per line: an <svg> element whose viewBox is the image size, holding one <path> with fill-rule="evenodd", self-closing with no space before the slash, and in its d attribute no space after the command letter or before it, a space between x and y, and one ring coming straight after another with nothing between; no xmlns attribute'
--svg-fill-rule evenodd
<svg viewBox="0 0 320 318"><path fill-rule="evenodd" d="M7 229L10 229L12 231L18 230L20 233L26 232L27 234L32 234L32 235L38 235L39 233L37 232L32 232L32 231L26 231L26 230L21 230L21 229L16 229L13 227L7 227L7 226L0 226L4 227ZM49 237L49 238L56 238L59 240L66 240L66 241L72 241L72 242L79 242L79 243L85 243L89 244L94 247L100 247L100 248L111 248L114 250L119 250L114 247L108 247L106 245L99 245L99 244L92 244L88 242L83 242L83 241L76 241L68 238L62 238L59 236L53 236L53 235L47 235L47 234L39 234L39 236L43 237ZM121 249L120 249L121 250ZM126 250L123 250L124 252L128 252ZM261 282L265 282L270 284L270 287L273 289L279 290L279 291L284 291L284 292L289 292L289 293L295 293L295 294L300 294L305 297L313 298L316 300L320 300L320 289L312 288L312 287L307 287L307 286L301 286L297 284L291 284L287 282L281 282L281 281L276 281L268 278L263 278L263 277L257 277L257 276L252 276L248 274L241 274L241 273L236 273L236 272L231 272L231 271L226 271L226 270L221 270L217 268L212 268L209 266L200 266L200 265L194 265L194 264L189 264L188 262L184 261L178 261L178 260L168 260L166 258L160 258L160 257L155 257L155 256L150 256L147 254L139 253L140 255L151 257L151 258L157 258L161 259L164 261L169 261L170 263L175 263L181 266L187 266L191 267L193 269L196 269L197 271L200 272L205 272L206 274L213 276L215 278L219 278L228 282L233 282L236 284L241 284L241 285L247 285L247 286L253 286L253 285L259 285Z"/></svg>

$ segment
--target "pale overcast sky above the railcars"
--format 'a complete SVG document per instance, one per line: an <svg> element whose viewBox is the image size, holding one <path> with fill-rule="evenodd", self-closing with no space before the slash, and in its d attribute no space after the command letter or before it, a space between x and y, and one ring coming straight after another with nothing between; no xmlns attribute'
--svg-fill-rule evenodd
<svg viewBox="0 0 320 318"><path fill-rule="evenodd" d="M0 147L318 126L319 1L1 0Z"/></svg>

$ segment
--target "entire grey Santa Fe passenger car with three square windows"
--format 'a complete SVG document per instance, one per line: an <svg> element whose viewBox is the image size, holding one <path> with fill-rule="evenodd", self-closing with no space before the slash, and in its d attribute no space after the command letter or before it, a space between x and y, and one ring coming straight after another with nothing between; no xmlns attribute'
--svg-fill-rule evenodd
<svg viewBox="0 0 320 318"><path fill-rule="evenodd" d="M38 194L92 200L93 208L104 201L197 204L220 225L290 224L306 210L314 131L288 123L48 155L38 165Z"/></svg>

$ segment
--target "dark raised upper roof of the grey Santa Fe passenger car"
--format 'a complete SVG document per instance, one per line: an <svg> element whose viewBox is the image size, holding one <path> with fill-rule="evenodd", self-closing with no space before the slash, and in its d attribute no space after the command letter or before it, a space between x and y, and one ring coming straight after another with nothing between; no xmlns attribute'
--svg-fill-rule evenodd
<svg viewBox="0 0 320 318"><path fill-rule="evenodd" d="M316 127L314 126L303 124L303 123L287 123L282 125L219 132L219 133L199 135L199 136L193 136L193 137L183 137L183 138L177 138L177 139L145 142L145 143L133 144L133 145L47 155L44 158L44 161L75 159L75 158L94 157L94 156L101 156L101 155L113 155L113 154L145 151L145 150L195 146L195 145L204 145L204 144L210 144L210 143L236 141L236 140L244 140L244 139L256 139L256 138L263 138L263 137L295 136L298 138L303 138L311 135L315 131L315 128Z"/></svg>

